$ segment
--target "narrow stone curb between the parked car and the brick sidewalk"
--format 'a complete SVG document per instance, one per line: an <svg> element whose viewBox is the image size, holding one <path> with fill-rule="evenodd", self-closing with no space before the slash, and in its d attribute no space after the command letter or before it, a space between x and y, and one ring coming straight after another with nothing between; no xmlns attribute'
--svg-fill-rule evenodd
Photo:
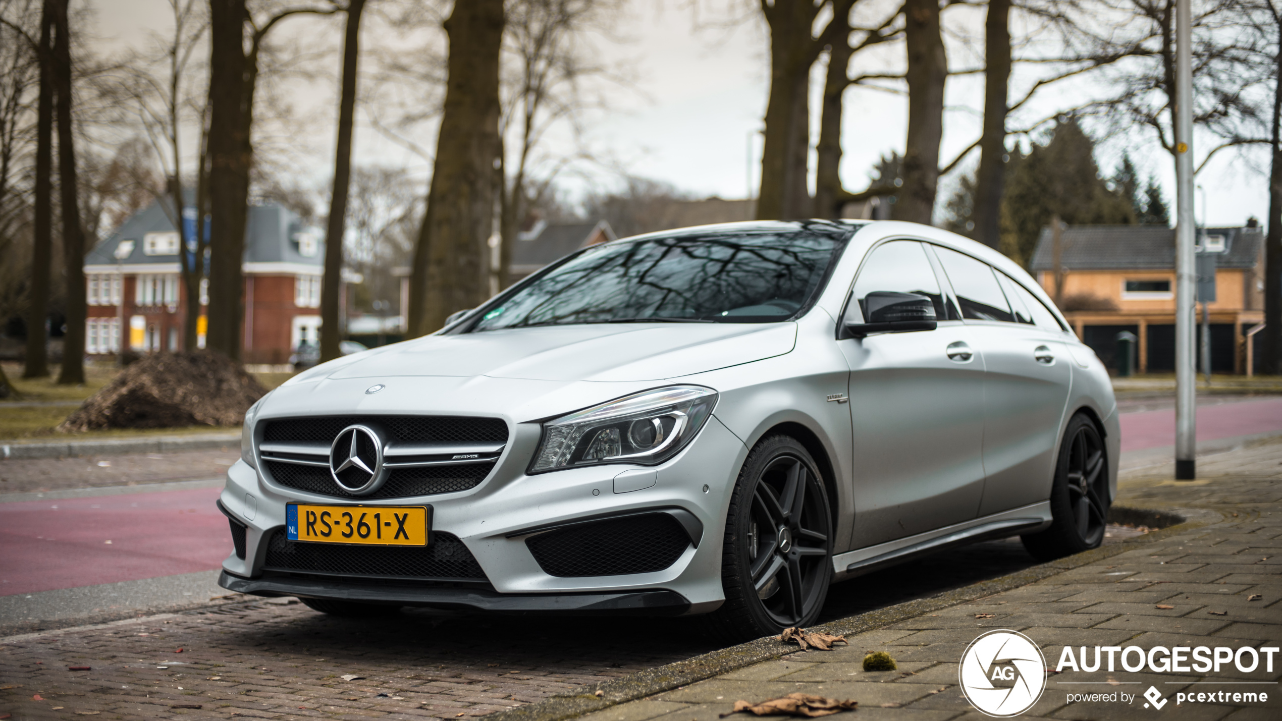
<svg viewBox="0 0 1282 721"><path fill-rule="evenodd" d="M915 619L931 611L938 611L959 603L967 603L987 595L994 595L1004 590L1010 590L1028 585L1033 581L1059 575L1072 569L1103 561L1104 558L1131 551L1136 543L1160 540L1169 535L1214 523L1209 515L1219 515L1213 511L1208 512L1194 508L1177 508L1176 512L1186 519L1196 516L1200 516L1200 519L1186 520L1173 526L1150 531L1145 535L1128 538L1113 546L1101 546L1100 548L1085 551L1082 553L1077 553L1076 556L1031 566L1022 571L1015 571L1014 574L1008 574L1005 576L999 576L973 585L945 592L929 598L905 601L904 603L896 603L895 606L887 606L876 611L868 611L856 616L812 626L812 630L841 635L870 631L890 624ZM781 656L796 653L797 651L797 647L783 644L776 636L759 638L756 640L750 640L747 643L741 643L720 651L695 656L694 658L687 658L685 661L677 661L676 663L637 671L636 674L631 674L622 679L601 681L600 684L583 688L574 695L551 697L528 706L512 708L509 711L496 711L486 715L485 718L486 721L565 721L567 718L592 713L595 711L601 711L629 701L637 701L640 698L672 690L678 686L686 686L728 671L735 671L736 668L742 668L745 666L760 663L762 661L770 661ZM601 695L596 695L597 693Z"/></svg>

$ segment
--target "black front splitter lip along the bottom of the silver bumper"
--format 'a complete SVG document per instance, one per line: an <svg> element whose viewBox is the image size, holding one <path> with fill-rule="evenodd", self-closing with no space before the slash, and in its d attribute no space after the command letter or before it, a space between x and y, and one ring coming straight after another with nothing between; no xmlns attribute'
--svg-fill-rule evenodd
<svg viewBox="0 0 1282 721"><path fill-rule="evenodd" d="M242 579L223 571L218 585L250 595L333 598L387 606L422 606L456 611L499 613L644 615L679 616L690 601L673 590L653 589L626 593L497 593L472 588L415 588L364 584L359 580L272 576Z"/></svg>

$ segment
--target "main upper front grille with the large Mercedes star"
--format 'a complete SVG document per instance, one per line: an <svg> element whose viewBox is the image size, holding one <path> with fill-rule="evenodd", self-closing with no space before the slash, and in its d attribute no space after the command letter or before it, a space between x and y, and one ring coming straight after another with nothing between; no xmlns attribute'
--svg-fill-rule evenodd
<svg viewBox="0 0 1282 721"><path fill-rule="evenodd" d="M506 443L508 424L496 417L469 416L318 416L264 421L264 443L326 443L354 423L378 424L394 443ZM456 466L392 469L374 493L355 496L344 490L328 467L264 461L267 475L287 488L337 498L408 498L455 493L476 488L494 469L494 462Z"/></svg>

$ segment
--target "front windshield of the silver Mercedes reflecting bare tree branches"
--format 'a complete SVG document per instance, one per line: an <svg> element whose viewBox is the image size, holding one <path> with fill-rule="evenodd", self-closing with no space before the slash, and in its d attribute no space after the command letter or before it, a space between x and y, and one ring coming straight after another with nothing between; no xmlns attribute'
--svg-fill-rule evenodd
<svg viewBox="0 0 1282 721"><path fill-rule="evenodd" d="M472 328L572 323L772 323L806 307L845 229L683 234L592 247Z"/></svg>

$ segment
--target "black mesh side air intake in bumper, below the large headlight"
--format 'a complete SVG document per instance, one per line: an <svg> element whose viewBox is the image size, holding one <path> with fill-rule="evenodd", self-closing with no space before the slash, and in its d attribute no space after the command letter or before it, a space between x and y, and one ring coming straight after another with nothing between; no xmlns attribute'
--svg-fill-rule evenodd
<svg viewBox="0 0 1282 721"><path fill-rule="evenodd" d="M690 537L668 514L644 514L551 530L526 539L526 546L549 575L618 576L667 569Z"/></svg>

